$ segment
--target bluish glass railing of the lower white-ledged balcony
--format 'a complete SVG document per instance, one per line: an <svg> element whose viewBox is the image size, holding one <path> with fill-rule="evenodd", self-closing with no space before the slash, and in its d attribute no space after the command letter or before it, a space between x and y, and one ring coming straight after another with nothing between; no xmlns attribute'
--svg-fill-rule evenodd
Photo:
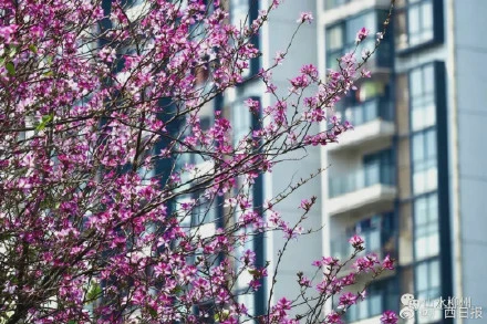
<svg viewBox="0 0 487 324"><path fill-rule="evenodd" d="M374 164L343 177L330 178L329 196L334 198L374 185L394 185L394 166Z"/></svg>

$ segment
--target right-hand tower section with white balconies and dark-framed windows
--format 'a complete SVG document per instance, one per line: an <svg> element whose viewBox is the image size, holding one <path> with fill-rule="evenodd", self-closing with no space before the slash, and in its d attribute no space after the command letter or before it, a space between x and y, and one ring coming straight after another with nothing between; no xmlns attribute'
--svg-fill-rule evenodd
<svg viewBox="0 0 487 324"><path fill-rule="evenodd" d="M387 35L367 63L372 77L335 107L355 129L322 149L323 166L331 165L322 181L324 252L348 255L346 240L359 233L367 251L397 260L348 312L348 323L376 323L382 311L405 307L403 294L437 307L419 307L404 323L480 323L487 317L487 2L395 2ZM317 1L323 74L354 49L362 27L371 40L356 53L372 50L388 8L388 0ZM467 303L438 310L448 297Z"/></svg>

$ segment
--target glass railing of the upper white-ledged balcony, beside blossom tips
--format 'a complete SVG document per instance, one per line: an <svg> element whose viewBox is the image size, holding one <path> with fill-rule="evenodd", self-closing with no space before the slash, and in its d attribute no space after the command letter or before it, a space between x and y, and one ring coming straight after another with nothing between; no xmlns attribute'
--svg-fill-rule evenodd
<svg viewBox="0 0 487 324"><path fill-rule="evenodd" d="M341 113L343 114L343 119L349 121L353 126L360 126L375 119L391 121L392 105L390 101L373 98L359 105L346 107Z"/></svg>

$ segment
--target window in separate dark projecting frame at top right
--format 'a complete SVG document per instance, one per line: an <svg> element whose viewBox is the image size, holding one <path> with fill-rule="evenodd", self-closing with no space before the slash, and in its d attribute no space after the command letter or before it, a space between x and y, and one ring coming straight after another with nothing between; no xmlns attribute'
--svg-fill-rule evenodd
<svg viewBox="0 0 487 324"><path fill-rule="evenodd" d="M395 28L398 50L443 41L435 29L435 25L441 27L443 23L443 7L439 4L441 0L403 0L398 3L398 7L402 6Z"/></svg>

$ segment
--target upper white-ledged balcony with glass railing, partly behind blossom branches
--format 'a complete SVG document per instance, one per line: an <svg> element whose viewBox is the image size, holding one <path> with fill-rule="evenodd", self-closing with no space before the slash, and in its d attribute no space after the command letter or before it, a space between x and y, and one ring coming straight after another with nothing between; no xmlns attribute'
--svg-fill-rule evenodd
<svg viewBox="0 0 487 324"><path fill-rule="evenodd" d="M386 100L373 98L348 107L341 113L342 118L349 121L354 129L341 135L336 145L329 145L329 151L373 146L390 139L395 133L392 122L392 104Z"/></svg>

